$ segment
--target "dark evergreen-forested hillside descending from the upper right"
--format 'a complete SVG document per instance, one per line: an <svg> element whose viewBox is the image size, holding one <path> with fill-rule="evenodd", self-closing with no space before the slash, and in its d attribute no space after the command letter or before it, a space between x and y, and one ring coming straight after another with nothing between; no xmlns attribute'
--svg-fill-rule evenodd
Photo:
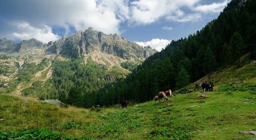
<svg viewBox="0 0 256 140"><path fill-rule="evenodd" d="M188 38L173 40L125 80L115 82L101 93L106 97L147 101L157 91L179 89L227 65L239 67L244 54L256 58L255 7L253 0L233 0L203 29Z"/></svg>

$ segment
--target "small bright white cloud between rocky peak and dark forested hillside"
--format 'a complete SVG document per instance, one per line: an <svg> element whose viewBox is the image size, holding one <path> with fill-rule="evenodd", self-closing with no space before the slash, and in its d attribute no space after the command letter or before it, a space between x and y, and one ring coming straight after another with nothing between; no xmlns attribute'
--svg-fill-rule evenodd
<svg viewBox="0 0 256 140"><path fill-rule="evenodd" d="M151 46L151 48L154 48L157 51L160 51L161 49L165 48L165 46L168 45L170 42L171 40L156 38L147 42L135 42L135 43L141 46Z"/></svg>

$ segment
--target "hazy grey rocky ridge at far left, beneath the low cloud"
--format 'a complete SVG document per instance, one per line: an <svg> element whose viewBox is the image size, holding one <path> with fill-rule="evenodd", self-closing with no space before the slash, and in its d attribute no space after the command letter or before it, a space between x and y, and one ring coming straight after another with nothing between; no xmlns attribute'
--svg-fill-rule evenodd
<svg viewBox="0 0 256 140"><path fill-rule="evenodd" d="M43 48L43 46L44 43L35 38L23 40L21 43L15 43L12 40L8 40L6 38L0 39L0 51L8 53L14 53L30 48Z"/></svg>

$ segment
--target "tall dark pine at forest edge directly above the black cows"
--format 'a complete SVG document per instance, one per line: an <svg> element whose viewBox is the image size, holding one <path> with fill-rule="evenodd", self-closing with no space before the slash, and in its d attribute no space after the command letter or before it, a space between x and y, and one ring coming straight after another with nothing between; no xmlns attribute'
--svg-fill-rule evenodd
<svg viewBox="0 0 256 140"><path fill-rule="evenodd" d="M209 72L216 69L216 59L213 54L213 51L211 51L210 47L208 46L205 54L204 54L204 74L208 74Z"/></svg>

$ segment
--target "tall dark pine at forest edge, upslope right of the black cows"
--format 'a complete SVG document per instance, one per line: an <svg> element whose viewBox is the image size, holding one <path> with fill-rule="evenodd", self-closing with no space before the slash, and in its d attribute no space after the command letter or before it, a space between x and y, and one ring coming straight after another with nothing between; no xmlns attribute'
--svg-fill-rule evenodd
<svg viewBox="0 0 256 140"><path fill-rule="evenodd" d="M231 55L231 61L236 61L237 59L238 61L238 66L240 67L241 65L241 60L240 57L243 55L244 52L244 40L241 37L241 35L238 32L235 32L232 36L232 38L230 39L230 53Z"/></svg>

